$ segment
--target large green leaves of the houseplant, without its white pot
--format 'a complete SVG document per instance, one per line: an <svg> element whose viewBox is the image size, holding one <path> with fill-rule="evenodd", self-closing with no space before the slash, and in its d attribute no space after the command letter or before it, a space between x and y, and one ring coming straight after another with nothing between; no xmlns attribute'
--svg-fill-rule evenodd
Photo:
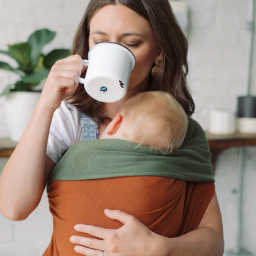
<svg viewBox="0 0 256 256"><path fill-rule="evenodd" d="M48 76L52 65L58 59L70 56L71 53L68 49L55 49L47 55L42 54L43 47L55 36L56 32L46 28L36 30L30 35L27 42L9 44L8 51L0 50L1 54L15 59L19 65L18 68L14 68L6 62L0 61L0 69L20 75L20 80L15 84L8 85L0 96L14 91L33 91L33 88Z"/></svg>

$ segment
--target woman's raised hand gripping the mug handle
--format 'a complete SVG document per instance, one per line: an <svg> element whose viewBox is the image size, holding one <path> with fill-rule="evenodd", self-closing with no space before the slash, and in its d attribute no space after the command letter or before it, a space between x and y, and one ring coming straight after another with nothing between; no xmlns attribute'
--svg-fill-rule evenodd
<svg viewBox="0 0 256 256"><path fill-rule="evenodd" d="M58 60L51 68L38 104L55 111L68 93L75 92L78 77L85 69L78 54Z"/></svg>

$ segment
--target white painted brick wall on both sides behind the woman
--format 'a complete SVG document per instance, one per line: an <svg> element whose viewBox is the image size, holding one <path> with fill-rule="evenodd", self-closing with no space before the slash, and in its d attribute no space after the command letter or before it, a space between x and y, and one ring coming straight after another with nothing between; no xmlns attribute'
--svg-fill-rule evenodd
<svg viewBox="0 0 256 256"><path fill-rule="evenodd" d="M196 102L197 119L207 129L211 106L236 110L236 97L243 92L246 63L245 0L184 0L190 6L189 86ZM13 0L0 4L0 49L25 41L36 29L48 27L57 37L45 52L72 45L75 29L88 4L71 0ZM255 41L256 44L256 41ZM2 57L2 56L1 56ZM253 54L255 70L256 51ZM17 79L0 71L0 91ZM256 94L256 73L252 93ZM0 137L8 136L0 100ZM256 255L256 149L247 149L242 245ZM216 190L223 215L226 249L235 244L237 149L221 154L216 168ZM0 170L4 160L0 160ZM0 256L40 256L51 238L51 215L44 193L35 212L23 222L12 222L0 214ZM36 228L37 227L37 228Z"/></svg>

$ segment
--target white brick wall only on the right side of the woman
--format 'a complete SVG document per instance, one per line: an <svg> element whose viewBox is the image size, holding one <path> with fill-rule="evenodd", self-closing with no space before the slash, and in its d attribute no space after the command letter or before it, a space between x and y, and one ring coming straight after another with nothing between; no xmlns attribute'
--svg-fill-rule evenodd
<svg viewBox="0 0 256 256"><path fill-rule="evenodd" d="M191 10L189 86L194 92L194 118L207 129L211 107L236 110L236 97L244 92L247 1L186 0ZM253 54L253 70L255 70ZM256 94L255 72L252 93ZM255 147L246 151L242 246L256 255ZM235 246L237 149L223 152L216 167L216 191L223 215L226 249Z"/></svg>

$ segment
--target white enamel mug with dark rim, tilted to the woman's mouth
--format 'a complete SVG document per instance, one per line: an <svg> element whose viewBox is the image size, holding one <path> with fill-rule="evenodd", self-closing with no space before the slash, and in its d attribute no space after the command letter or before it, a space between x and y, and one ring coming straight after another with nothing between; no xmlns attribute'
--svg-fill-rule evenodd
<svg viewBox="0 0 256 256"><path fill-rule="evenodd" d="M88 52L85 78L79 78L86 92L100 102L117 102L128 90L131 71L136 65L133 53L125 46L102 42Z"/></svg>

